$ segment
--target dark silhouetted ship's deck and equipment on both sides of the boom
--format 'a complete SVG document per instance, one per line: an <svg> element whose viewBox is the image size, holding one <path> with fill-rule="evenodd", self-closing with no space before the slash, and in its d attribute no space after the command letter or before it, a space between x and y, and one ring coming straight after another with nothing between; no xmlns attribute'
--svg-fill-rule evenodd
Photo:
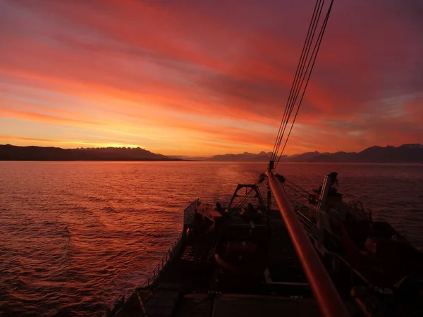
<svg viewBox="0 0 423 317"><path fill-rule="evenodd" d="M330 192L326 209L333 204L338 206L341 201L341 194L334 190L333 177L336 178L336 173L325 178L331 189L323 186L309 200L310 227L304 232L313 243L317 239L310 232L315 232L312 228L319 218L314 206L323 202L318 197L322 191ZM283 178L276 180L280 182ZM245 188L254 194L239 195ZM128 299L123 297L106 316L343 316L319 310L312 287L315 281L305 274L298 242L293 242L290 225L281 211L269 209L269 202L264 201L257 184L238 185L228 204L193 201L184 211L184 228L176 242L145 282ZM369 224L369 214L359 214ZM304 222L304 213L295 221L300 223L300 219ZM374 227L366 231L348 227L359 217L351 219L345 216L340 223L333 222L330 230L338 232L338 243L329 238L335 234L325 229L327 243L322 242L322 248L326 255L320 254L322 263L331 265L326 265L327 271L319 274L331 275L345 306L345 316L419 316L416 313L423 309L423 287L417 276L422 271L422 254L388 223L372 221ZM354 246L343 242L343 230ZM397 239L392 239L393 233ZM364 252L364 245L359 246L355 240L358 235L367 235L373 242L378 237L381 244L373 248L382 247L380 251L373 249L377 256L380 253L376 263L393 268L403 261L398 270L387 270L384 276L369 273L374 270L374 258ZM391 240L388 249L384 239ZM385 258L389 250L393 253ZM364 253L357 256L357 252ZM398 257L395 263L391 263L393 257ZM318 263L309 264L317 268ZM330 285L323 284L326 286Z"/></svg>

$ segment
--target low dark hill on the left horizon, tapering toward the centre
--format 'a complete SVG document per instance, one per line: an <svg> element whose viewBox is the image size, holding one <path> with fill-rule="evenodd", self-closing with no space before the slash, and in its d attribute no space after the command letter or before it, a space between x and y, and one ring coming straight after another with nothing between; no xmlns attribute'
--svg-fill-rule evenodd
<svg viewBox="0 0 423 317"><path fill-rule="evenodd" d="M61 149L59 147L16 147L0 145L0 161L181 161L145 149L89 148Z"/></svg>

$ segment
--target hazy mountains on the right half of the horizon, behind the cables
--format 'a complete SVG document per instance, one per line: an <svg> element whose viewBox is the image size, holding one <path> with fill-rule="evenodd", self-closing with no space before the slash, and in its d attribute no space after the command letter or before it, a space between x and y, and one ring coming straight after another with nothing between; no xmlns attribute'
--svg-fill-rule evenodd
<svg viewBox="0 0 423 317"><path fill-rule="evenodd" d="M207 161L269 161L271 152L259 154L223 154L212 156ZM286 162L373 162L373 163L423 163L422 144L403 144L400 147L369 147L360 152L320 153L318 151L283 156Z"/></svg>

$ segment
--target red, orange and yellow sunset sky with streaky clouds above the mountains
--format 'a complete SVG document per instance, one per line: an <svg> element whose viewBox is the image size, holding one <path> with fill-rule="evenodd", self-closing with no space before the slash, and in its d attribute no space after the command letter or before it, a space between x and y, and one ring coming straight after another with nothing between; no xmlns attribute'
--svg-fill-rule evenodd
<svg viewBox="0 0 423 317"><path fill-rule="evenodd" d="M0 6L0 144L211 155L271 151L314 1ZM335 0L286 154L422 127L423 1Z"/></svg>

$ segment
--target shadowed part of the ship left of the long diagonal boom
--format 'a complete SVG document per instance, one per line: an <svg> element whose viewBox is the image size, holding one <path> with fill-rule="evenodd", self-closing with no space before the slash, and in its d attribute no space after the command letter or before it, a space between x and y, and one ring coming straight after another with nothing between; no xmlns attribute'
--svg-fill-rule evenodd
<svg viewBox="0 0 423 317"><path fill-rule="evenodd" d="M235 202L245 187L257 203L243 208ZM238 190L225 208L193 201L163 261L108 316L319 316L281 214L266 211L257 185Z"/></svg>

